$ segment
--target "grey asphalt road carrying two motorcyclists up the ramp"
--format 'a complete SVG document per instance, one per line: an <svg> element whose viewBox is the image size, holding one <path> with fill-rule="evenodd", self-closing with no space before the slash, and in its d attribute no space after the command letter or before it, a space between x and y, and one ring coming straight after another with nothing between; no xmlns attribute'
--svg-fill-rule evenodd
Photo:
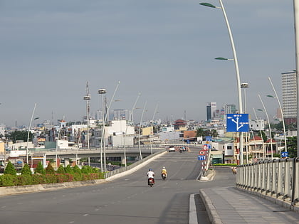
<svg viewBox="0 0 299 224"><path fill-rule="evenodd" d="M57 191L4 196L0 200L1 223L189 223L189 196L200 188L234 186L231 172L219 173L214 181L196 178L201 169L198 149L171 152L150 164L109 183ZM159 176L166 166L168 177ZM147 186L146 173L152 168L156 184ZM198 220L209 223L199 197Z"/></svg>

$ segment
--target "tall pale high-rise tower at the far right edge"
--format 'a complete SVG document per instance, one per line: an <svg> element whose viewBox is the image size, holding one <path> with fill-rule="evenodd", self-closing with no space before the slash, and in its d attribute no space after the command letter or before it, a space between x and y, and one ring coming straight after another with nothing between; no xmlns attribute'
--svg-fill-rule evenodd
<svg viewBox="0 0 299 224"><path fill-rule="evenodd" d="M297 121L297 92L295 71L281 73L283 90L283 117L286 124Z"/></svg>

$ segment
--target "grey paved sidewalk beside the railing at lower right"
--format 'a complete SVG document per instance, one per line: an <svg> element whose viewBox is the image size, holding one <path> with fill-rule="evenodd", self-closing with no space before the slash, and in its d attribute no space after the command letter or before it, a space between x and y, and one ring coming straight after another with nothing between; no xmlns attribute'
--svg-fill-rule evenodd
<svg viewBox="0 0 299 224"><path fill-rule="evenodd" d="M235 187L204 188L199 194L211 223L299 223L299 213Z"/></svg>

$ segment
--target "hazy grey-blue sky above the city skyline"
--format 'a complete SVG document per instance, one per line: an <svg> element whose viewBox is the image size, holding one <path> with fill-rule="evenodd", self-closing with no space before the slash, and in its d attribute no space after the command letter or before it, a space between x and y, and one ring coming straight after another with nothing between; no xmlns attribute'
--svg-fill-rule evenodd
<svg viewBox="0 0 299 224"><path fill-rule="evenodd" d="M205 1L205 0L204 0ZM111 109L147 101L144 118L206 119L206 102L236 104L236 72L221 9L195 0L0 0L0 123L82 121L120 85ZM208 1L219 6L219 1ZM269 116L281 98L281 73L295 69L293 1L223 0L246 102ZM139 119L142 110L135 110ZM266 117L261 114L261 117ZM137 120L138 121L138 120Z"/></svg>

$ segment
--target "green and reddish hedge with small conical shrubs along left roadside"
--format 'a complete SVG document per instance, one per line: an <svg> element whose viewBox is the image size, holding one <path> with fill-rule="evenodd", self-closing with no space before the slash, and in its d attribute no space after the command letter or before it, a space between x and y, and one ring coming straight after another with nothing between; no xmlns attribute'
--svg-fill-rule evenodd
<svg viewBox="0 0 299 224"><path fill-rule="evenodd" d="M63 167L61 165L57 171L55 171L51 163L48 164L46 169L43 169L41 162L38 164L34 174L31 173L28 164L25 164L21 170L21 175L17 175L14 165L9 161L4 170L4 175L0 176L0 187L88 181L103 178L104 174L100 172L99 169L91 166L83 166L82 169L80 169L78 166L71 167L68 165Z"/></svg>

